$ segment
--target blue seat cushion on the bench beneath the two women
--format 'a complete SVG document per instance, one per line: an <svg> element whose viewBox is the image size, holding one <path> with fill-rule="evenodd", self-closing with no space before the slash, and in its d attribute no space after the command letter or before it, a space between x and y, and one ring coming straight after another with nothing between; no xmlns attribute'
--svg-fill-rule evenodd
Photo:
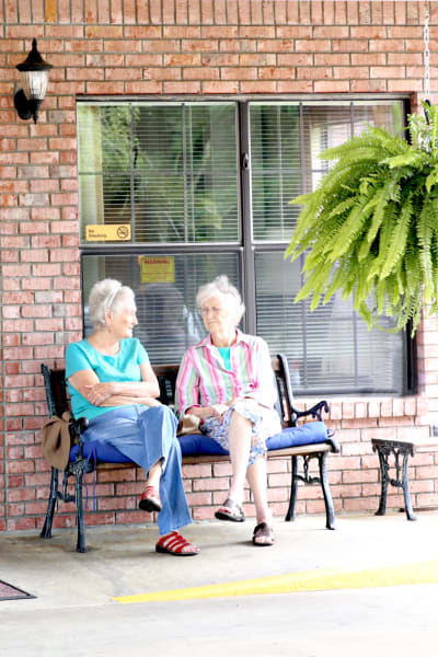
<svg viewBox="0 0 438 657"><path fill-rule="evenodd" d="M327 427L323 422L309 422L299 427L290 427L284 429L279 434L272 436L266 440L266 447L268 451L275 449L285 449L287 447L299 447L300 445L315 445L318 442L325 442L328 440ZM181 451L183 457L194 454L210 454L210 456L228 456L228 451L222 449L216 440L203 436L201 434L187 434L180 436ZM70 459L76 460L79 451L78 445L70 450ZM85 459L89 457L97 457L97 461L105 463L130 463L130 459L125 457L112 445L108 445L104 440L90 440L84 442L83 456Z"/></svg>

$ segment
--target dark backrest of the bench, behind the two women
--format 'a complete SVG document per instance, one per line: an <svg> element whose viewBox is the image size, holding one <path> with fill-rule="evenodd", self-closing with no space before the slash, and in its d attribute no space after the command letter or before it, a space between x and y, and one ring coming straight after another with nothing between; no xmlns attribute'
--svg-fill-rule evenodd
<svg viewBox="0 0 438 657"><path fill-rule="evenodd" d="M153 365L152 367L160 384L160 402L168 406L172 405L175 397L178 365ZM277 412L285 427L295 426L298 411L292 403L292 388L286 357L278 354L272 359L272 367L278 391ZM42 365L42 372L46 389L48 414L49 416L58 415L60 417L65 411L69 410L66 371L64 369L50 369L46 365Z"/></svg>

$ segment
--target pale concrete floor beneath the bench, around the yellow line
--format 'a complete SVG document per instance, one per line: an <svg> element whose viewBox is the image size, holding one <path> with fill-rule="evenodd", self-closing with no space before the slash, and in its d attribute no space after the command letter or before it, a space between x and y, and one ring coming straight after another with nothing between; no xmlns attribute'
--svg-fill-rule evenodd
<svg viewBox="0 0 438 657"><path fill-rule="evenodd" d="M137 657L149 654L244 657L438 653L438 584L140 602L114 597L221 585L254 577L358 572L438 562L438 514L344 516L275 521L276 545L250 543L253 522L193 525L184 534L199 556L154 552L154 527L89 528L89 553L76 532L0 534L0 579L36 599L0 601L1 657Z"/></svg>

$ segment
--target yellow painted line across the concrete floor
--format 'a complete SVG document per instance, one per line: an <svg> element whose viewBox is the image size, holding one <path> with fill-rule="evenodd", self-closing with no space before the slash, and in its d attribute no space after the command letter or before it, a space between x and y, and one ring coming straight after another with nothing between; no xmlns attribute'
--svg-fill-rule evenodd
<svg viewBox="0 0 438 657"><path fill-rule="evenodd" d="M438 584L438 561L402 564L385 568L369 568L358 572L345 572L334 568L307 570L210 586L123 596L113 598L113 600L122 604L132 604L135 602L378 588L413 584Z"/></svg>

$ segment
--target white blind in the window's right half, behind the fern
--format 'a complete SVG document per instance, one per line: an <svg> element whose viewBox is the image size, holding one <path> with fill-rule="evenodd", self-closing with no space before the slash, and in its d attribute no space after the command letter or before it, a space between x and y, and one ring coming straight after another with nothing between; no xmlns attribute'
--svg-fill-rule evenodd
<svg viewBox="0 0 438 657"><path fill-rule="evenodd" d="M402 393L405 335L368 331L339 295L313 312L309 301L296 304L303 258L286 262L280 249L299 211L289 200L314 189L328 169L320 153L370 124L400 129L400 103L260 102L250 117L257 333L272 353L287 355L296 392Z"/></svg>

